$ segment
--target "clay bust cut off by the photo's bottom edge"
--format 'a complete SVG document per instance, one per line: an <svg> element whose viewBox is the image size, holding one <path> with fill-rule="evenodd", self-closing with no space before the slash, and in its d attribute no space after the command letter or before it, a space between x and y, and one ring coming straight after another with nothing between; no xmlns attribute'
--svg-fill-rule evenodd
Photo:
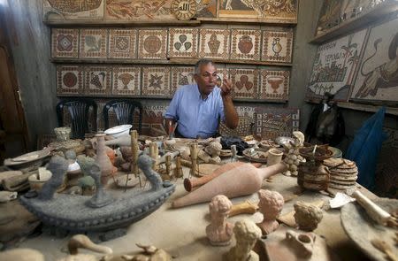
<svg viewBox="0 0 398 261"><path fill-rule="evenodd" d="M235 234L236 246L229 250L226 254L228 261L256 261L260 260L253 247L257 239L261 237L261 229L249 220L243 219L237 221L233 227Z"/></svg>

